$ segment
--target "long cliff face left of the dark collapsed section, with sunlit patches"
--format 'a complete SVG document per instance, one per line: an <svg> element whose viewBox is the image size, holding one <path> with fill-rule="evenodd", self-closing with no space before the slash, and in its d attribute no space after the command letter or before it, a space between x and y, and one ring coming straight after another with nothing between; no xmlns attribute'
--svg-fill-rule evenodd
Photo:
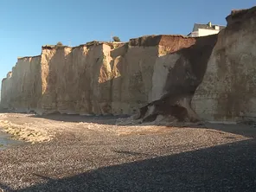
<svg viewBox="0 0 256 192"><path fill-rule="evenodd" d="M125 44L42 47L41 56L19 59L3 80L3 103L19 112L136 113L156 99L152 86L163 86L155 69L172 58L161 58L194 43L195 38L157 35Z"/></svg>

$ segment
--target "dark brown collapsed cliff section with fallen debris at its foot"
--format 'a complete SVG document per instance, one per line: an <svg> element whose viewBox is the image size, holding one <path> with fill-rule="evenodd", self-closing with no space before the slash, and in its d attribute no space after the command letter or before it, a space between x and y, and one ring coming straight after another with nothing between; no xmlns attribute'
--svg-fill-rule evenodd
<svg viewBox="0 0 256 192"><path fill-rule="evenodd" d="M157 116L179 121L197 121L191 109L195 89L202 82L217 35L187 39L187 48L159 56L156 61L151 102L140 108L138 118L154 121Z"/></svg>

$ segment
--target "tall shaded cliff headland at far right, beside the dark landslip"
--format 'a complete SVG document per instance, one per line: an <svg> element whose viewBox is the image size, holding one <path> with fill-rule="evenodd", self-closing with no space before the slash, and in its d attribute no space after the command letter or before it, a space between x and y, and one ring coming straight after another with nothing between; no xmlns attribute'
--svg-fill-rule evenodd
<svg viewBox="0 0 256 192"><path fill-rule="evenodd" d="M256 7L227 16L192 106L204 120L238 122L256 117Z"/></svg>

